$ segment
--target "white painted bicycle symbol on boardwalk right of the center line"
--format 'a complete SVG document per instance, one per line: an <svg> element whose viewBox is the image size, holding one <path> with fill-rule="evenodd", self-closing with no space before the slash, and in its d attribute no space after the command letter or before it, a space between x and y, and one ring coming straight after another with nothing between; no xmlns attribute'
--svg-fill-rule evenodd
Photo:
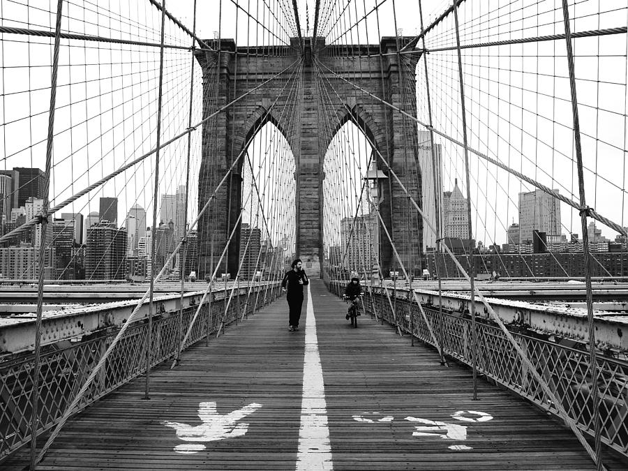
<svg viewBox="0 0 628 471"><path fill-rule="evenodd" d="M394 417L387 415L379 417L380 412L364 412L352 416L354 421L367 424L375 424L376 422L392 422ZM451 414L451 418L461 422L486 422L493 419L491 414L480 412L479 410L458 410ZM421 419L420 417L405 417L404 420L414 422L420 425L414 426L413 437L438 437L442 440L467 440L467 426L460 424L451 424L449 422L435 421L430 419ZM470 450L465 444L452 444L448 447L454 451Z"/></svg>

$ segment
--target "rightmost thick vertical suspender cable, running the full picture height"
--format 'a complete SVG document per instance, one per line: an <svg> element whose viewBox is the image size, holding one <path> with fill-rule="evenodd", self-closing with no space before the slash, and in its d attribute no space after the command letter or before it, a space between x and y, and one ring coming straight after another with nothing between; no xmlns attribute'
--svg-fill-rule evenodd
<svg viewBox="0 0 628 471"><path fill-rule="evenodd" d="M591 371L591 401L593 408L593 430L595 432L595 465L597 470L603 468L601 462L601 424L599 417L599 391L597 387L597 354L595 351L595 325L593 324L593 293L591 287L591 261L589 253L589 234L587 230L587 216L589 208L585 198L584 174L582 165L582 143L580 136L580 118L578 117L578 97L576 95L576 68L574 65L574 51L571 46L571 27L569 26L569 6L567 0L562 0L562 15L565 20L565 41L567 42L567 62L569 66L569 86L571 88L571 111L574 114L574 142L576 144L576 167L578 169L578 190L580 192L580 218L582 223L582 248L585 263L585 285L587 299L587 318L589 328L589 369Z"/></svg>

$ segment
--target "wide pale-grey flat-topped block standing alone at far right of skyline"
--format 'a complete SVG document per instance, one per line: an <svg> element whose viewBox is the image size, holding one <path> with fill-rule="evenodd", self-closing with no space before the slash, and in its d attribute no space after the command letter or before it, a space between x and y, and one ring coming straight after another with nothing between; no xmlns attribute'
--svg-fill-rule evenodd
<svg viewBox="0 0 628 471"><path fill-rule="evenodd" d="M561 232L560 201L543 190L519 193L519 243L532 243L534 230L548 236Z"/></svg>

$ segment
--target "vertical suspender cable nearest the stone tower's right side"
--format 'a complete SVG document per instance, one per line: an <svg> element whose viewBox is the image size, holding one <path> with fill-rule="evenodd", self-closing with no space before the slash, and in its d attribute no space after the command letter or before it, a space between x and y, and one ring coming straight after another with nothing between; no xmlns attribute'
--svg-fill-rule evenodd
<svg viewBox="0 0 628 471"><path fill-rule="evenodd" d="M423 26L423 2L419 0L419 18L421 20L421 39L423 40L423 62L425 66L425 91L427 94L427 105L428 105L428 123L430 124L430 147L432 149L432 178L434 181L434 212L436 214L436 253L434 256L434 270L435 274L438 278L438 319L440 324L440 329L438 329L439 334L439 343L440 343L440 364L444 365L444 355L442 352L442 283L440 278L440 273L438 272L438 254L440 253L440 244L442 244L442 227L441 227L441 211L440 207L440 195L442 195L442 187L440 186L440 179L438 175L440 174L440 161L436 156L436 148L434 147L434 132L432 130L433 121L432 121L432 103L431 103L431 95L430 95L430 82L428 77L428 66L427 66L427 54L425 53L425 35L424 35L424 26Z"/></svg>

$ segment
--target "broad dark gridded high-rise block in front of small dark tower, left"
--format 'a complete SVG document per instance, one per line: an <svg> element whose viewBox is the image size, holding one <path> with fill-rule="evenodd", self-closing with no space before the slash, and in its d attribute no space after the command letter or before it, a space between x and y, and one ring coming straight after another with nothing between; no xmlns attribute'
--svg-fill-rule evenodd
<svg viewBox="0 0 628 471"><path fill-rule="evenodd" d="M96 223L87 232L85 278L119 280L126 275L126 229Z"/></svg>

